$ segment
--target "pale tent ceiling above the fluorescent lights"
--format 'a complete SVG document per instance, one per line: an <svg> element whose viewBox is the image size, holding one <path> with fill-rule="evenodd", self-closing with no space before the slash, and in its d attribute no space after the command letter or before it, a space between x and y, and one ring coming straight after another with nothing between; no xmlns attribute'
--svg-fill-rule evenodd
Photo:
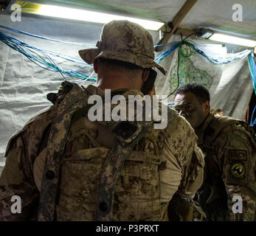
<svg viewBox="0 0 256 236"><path fill-rule="evenodd" d="M49 0L33 2L107 11L134 17L152 18L159 21L172 21L186 0ZM233 4L243 7L243 21L232 21ZM198 27L211 27L215 30L241 35L256 40L256 1L255 0L198 0L185 16L179 27L190 30Z"/></svg>

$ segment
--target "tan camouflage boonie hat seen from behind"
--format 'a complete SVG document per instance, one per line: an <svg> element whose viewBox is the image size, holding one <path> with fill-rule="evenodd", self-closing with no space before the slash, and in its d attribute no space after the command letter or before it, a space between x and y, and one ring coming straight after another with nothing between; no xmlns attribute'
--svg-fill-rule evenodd
<svg viewBox="0 0 256 236"><path fill-rule="evenodd" d="M163 74L166 69L154 61L153 38L145 28L131 21L111 21L104 25L97 49L83 49L80 57L86 63L95 58L122 60L142 68L158 68Z"/></svg>

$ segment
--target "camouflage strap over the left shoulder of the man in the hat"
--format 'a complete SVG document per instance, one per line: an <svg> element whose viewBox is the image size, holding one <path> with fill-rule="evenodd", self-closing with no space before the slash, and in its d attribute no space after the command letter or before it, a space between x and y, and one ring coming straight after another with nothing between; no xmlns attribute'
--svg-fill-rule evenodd
<svg viewBox="0 0 256 236"><path fill-rule="evenodd" d="M41 199L38 221L53 221L55 199L58 191L60 161L66 146L66 139L72 115L87 104L86 93L76 83L58 107L58 114L52 122L46 151L46 164L41 183Z"/></svg>

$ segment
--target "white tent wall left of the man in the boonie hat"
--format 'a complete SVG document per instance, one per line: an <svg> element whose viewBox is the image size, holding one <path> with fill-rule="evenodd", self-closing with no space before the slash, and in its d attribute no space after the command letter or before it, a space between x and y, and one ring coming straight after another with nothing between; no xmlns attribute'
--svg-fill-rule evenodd
<svg viewBox="0 0 256 236"><path fill-rule="evenodd" d="M87 24L75 21L56 21L53 19L31 18L21 16L21 22L13 22L10 15L0 14L0 24L16 30L30 32L34 35L53 38L59 41L86 43L95 45L100 38L102 24ZM53 41L33 38L1 29L1 31L24 41L39 49L49 49L74 58L80 58L79 49L84 46L60 44ZM0 42L0 171L4 165L4 153L7 140L15 131L38 111L48 107L50 103L46 94L56 92L63 81L60 72L42 69ZM55 58L54 58L55 59ZM55 60L63 69L71 69L72 63L61 59ZM79 67L80 65L76 65ZM91 67L92 69L92 67ZM81 71L82 72L82 71ZM88 72L86 74L91 73Z"/></svg>

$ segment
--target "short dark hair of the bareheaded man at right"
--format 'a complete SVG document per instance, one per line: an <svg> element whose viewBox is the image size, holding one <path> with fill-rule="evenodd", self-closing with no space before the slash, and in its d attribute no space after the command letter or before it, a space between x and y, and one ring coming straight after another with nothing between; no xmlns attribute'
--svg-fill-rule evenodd
<svg viewBox="0 0 256 236"><path fill-rule="evenodd" d="M198 101L204 103L205 101L210 102L210 93L209 91L202 86L200 83L186 83L175 92L175 97L177 94L185 94L187 92L193 93L198 98Z"/></svg>

